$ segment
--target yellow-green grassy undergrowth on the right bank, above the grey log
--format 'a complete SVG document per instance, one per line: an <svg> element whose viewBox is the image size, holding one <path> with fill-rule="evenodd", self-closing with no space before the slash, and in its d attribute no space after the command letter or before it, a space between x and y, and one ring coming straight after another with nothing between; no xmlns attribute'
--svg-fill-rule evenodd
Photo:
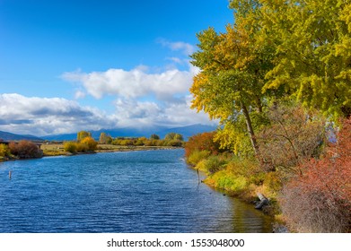
<svg viewBox="0 0 351 251"><path fill-rule="evenodd" d="M203 158L189 164L206 174L203 180L206 185L224 190L247 203L257 202L258 194L265 195L269 204L263 211L281 220L277 197L282 182L277 172L263 172L256 160L240 159L228 153L206 156L200 152L199 155Z"/></svg>

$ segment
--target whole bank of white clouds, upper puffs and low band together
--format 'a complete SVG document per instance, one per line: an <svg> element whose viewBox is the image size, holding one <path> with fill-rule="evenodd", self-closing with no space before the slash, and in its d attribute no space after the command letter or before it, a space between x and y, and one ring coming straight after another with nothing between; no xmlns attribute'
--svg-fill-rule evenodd
<svg viewBox="0 0 351 251"><path fill-rule="evenodd" d="M184 55L194 51L183 42L162 39L159 43ZM0 94L0 130L43 136L118 127L210 124L206 114L190 109L189 88L198 73L197 67L190 65L189 59L166 59L188 67L180 70L168 65L163 70L152 71L139 65L131 70L110 68L105 72L64 73L61 78L74 83L75 100ZM95 99L93 104L112 97L110 112L79 103L89 96Z"/></svg>

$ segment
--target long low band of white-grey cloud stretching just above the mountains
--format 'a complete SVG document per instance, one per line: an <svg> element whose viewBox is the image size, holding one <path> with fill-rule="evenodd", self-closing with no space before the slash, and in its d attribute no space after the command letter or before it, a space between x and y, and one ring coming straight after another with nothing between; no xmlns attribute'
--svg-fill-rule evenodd
<svg viewBox="0 0 351 251"><path fill-rule="evenodd" d="M189 108L191 96L178 102L117 99L115 111L83 107L74 100L0 94L0 130L14 134L68 134L80 130L208 124L206 114Z"/></svg>

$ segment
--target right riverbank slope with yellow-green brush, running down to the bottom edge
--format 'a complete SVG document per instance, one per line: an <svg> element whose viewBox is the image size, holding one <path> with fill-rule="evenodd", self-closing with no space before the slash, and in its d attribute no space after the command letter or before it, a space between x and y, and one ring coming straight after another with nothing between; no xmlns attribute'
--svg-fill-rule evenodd
<svg viewBox="0 0 351 251"><path fill-rule="evenodd" d="M252 208L274 219L274 232L291 231L286 227L277 202L281 185L274 173L265 174L255 170L254 162L236 161L224 156L211 156L199 161L195 166L189 166L203 174L201 183L248 203ZM263 198L259 196L262 195L267 201L261 201Z"/></svg>

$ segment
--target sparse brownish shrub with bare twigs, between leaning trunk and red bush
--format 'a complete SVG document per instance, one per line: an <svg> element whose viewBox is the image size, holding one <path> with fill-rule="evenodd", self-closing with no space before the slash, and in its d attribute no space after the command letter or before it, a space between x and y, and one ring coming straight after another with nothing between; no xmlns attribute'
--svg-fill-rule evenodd
<svg viewBox="0 0 351 251"><path fill-rule="evenodd" d="M267 171L300 172L303 160L317 157L324 142L324 121L301 106L279 104L268 111L271 125L258 136L260 158Z"/></svg>

